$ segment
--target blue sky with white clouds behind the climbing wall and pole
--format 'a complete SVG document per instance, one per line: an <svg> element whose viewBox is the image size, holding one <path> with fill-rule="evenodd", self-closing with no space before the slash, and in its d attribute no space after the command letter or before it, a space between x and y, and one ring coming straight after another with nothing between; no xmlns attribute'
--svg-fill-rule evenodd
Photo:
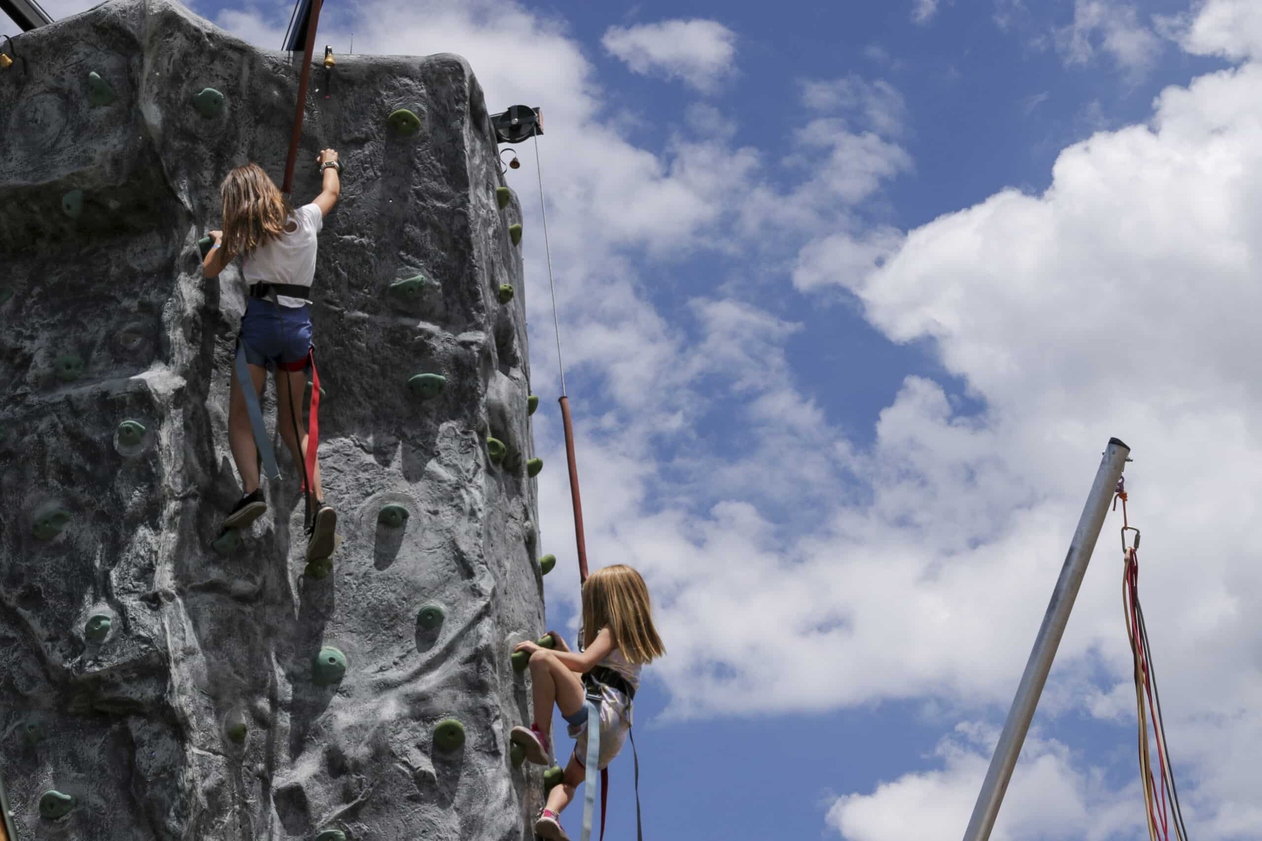
<svg viewBox="0 0 1262 841"><path fill-rule="evenodd" d="M269 48L292 10L193 8ZM1189 830L1262 837L1262 4L329 0L318 44L352 32L546 113L588 550L644 571L669 649L636 710L651 838L958 841L1112 435ZM1147 837L1119 527L996 840Z"/></svg>

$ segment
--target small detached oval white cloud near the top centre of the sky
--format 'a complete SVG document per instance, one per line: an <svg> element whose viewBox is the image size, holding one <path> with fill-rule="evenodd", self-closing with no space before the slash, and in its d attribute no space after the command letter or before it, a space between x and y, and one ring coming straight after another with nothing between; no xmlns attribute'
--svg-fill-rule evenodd
<svg viewBox="0 0 1262 841"><path fill-rule="evenodd" d="M717 20L610 26L601 43L636 73L683 79L702 92L736 69L736 33Z"/></svg>

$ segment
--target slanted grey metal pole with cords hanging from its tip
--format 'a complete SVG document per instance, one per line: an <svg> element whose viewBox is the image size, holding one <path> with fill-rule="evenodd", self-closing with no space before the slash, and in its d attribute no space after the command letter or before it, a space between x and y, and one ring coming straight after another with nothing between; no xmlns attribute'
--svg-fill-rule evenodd
<svg viewBox="0 0 1262 841"><path fill-rule="evenodd" d="M1092 493L1087 497L1087 507L1083 508L1083 516L1074 531L1074 541L1069 545L1069 554L1065 555L1065 565L1060 569L1060 579L1051 594L1051 603L1034 641L1034 651L1030 652L1025 675L1021 676L1017 695L1012 699L1008 720L1003 724L1000 743L994 746L994 757L991 758L986 782L982 783L982 791L977 796L977 806L973 807L973 817L964 832L964 841L987 841L991 830L994 828L994 818L998 817L1003 794L1008 791L1012 769L1021 754L1025 734L1030 729L1035 707L1039 706L1042 685L1047 681L1047 672L1051 671L1051 661L1056 657L1056 648L1069 623L1069 612L1074 609L1078 588L1083 584L1087 564L1092 560L1095 540L1100 535L1100 527L1104 526L1109 502L1117 489L1117 480L1122 478L1129 451L1131 448L1122 441L1116 438L1109 439L1099 470L1095 472L1095 482L1092 483Z"/></svg>

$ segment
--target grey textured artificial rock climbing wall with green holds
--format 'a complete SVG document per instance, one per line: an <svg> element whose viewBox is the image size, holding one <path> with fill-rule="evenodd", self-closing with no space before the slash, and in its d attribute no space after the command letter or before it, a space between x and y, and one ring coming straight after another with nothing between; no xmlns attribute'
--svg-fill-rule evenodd
<svg viewBox="0 0 1262 841"><path fill-rule="evenodd" d="M0 73L0 774L19 838L529 838L541 774L507 743L528 719L510 648L543 630L520 209L497 204L468 66L312 71L295 202L319 190L319 149L346 168L312 311L343 542L316 579L270 378L284 478L235 552L211 546L240 494L245 289L236 267L203 281L196 246L231 166L281 182L302 57L164 0L16 45L28 72ZM415 132L389 121L399 107ZM409 388L422 373L442 391Z"/></svg>

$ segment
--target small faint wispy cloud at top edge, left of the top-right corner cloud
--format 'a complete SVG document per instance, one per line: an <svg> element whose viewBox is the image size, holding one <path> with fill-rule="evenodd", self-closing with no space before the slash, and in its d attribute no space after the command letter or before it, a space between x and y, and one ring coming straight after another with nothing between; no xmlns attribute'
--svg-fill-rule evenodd
<svg viewBox="0 0 1262 841"><path fill-rule="evenodd" d="M1119 68L1140 76L1156 63L1161 39L1140 20L1138 10L1116 0L1074 0L1074 20L1056 32L1068 64L1087 64L1103 49Z"/></svg>

